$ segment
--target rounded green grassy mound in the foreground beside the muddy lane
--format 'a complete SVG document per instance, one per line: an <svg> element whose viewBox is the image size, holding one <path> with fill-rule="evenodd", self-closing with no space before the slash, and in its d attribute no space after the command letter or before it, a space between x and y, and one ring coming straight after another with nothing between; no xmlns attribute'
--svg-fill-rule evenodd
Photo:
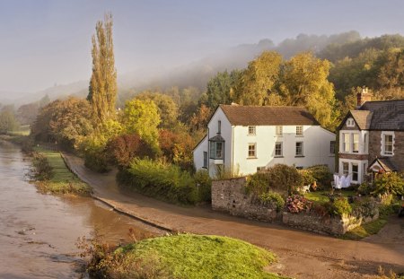
<svg viewBox="0 0 404 279"><path fill-rule="evenodd" d="M107 277L140 278L139 273L153 270L157 276L145 278L285 278L264 271L276 261L273 253L227 237L164 236L118 248L113 255L109 262L98 263L113 266L104 268Z"/></svg>

